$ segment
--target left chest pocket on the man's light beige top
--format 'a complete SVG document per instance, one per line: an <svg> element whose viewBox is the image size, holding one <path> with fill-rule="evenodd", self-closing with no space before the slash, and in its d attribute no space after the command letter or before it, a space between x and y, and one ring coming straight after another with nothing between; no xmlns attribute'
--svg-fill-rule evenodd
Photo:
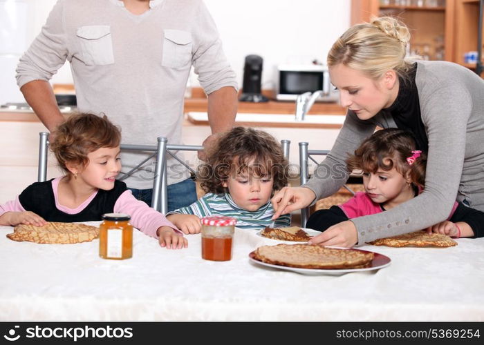
<svg viewBox="0 0 484 345"><path fill-rule="evenodd" d="M114 63L113 42L109 26L81 26L77 29L76 34L80 39L82 61L86 65Z"/></svg>

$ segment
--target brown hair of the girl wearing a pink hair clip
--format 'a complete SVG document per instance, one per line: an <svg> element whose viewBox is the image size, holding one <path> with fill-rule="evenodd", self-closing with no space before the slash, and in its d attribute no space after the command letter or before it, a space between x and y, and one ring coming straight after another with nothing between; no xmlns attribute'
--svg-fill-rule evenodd
<svg viewBox="0 0 484 345"><path fill-rule="evenodd" d="M375 173L378 169L389 171L395 167L403 176L409 174L413 184L423 187L427 155L422 152L412 165L407 162L407 158L413 155L412 151L418 149L416 146L410 132L398 128L378 130L365 139L355 154L346 160L348 171Z"/></svg>

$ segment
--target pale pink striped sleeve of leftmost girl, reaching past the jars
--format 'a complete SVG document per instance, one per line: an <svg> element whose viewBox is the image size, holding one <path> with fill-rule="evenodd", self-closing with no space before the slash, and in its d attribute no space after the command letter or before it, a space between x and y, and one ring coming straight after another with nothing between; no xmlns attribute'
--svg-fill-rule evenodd
<svg viewBox="0 0 484 345"><path fill-rule="evenodd" d="M169 226L183 236L183 233L169 221L165 215L149 207L145 202L137 200L131 194L131 190L126 190L114 204L115 213L126 213L131 216L131 224L148 236L158 239L156 230L160 226Z"/></svg>

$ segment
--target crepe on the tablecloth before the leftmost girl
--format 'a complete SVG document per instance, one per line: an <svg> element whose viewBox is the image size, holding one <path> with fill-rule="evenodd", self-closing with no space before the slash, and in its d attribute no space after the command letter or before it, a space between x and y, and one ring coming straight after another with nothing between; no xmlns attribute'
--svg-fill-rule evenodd
<svg viewBox="0 0 484 345"><path fill-rule="evenodd" d="M99 228L86 224L60 223L49 221L44 226L21 224L14 232L7 234L9 239L42 244L73 244L89 242L99 235Z"/></svg>

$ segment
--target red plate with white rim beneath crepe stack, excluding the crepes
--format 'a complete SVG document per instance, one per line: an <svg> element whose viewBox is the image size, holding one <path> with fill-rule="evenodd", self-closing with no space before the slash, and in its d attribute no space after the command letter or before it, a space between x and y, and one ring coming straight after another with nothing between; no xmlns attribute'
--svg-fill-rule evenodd
<svg viewBox="0 0 484 345"><path fill-rule="evenodd" d="M353 248L354 249L354 248ZM261 262L257 259L254 259L254 252L249 254L249 259L254 264L268 266L272 268L278 268L279 270L289 270L291 272L299 273L301 275L344 275L345 273L351 272L364 272L367 270L379 270L380 268L384 268L391 264L391 259L386 255L382 255L380 253L371 252L369 250L360 250L364 253L373 253L374 257L371 261L370 267L365 268L348 268L348 269L336 269L336 270L319 270L317 268L297 268L297 267L288 267L288 266L281 266L281 265L274 265L274 264L266 264L266 262Z"/></svg>

